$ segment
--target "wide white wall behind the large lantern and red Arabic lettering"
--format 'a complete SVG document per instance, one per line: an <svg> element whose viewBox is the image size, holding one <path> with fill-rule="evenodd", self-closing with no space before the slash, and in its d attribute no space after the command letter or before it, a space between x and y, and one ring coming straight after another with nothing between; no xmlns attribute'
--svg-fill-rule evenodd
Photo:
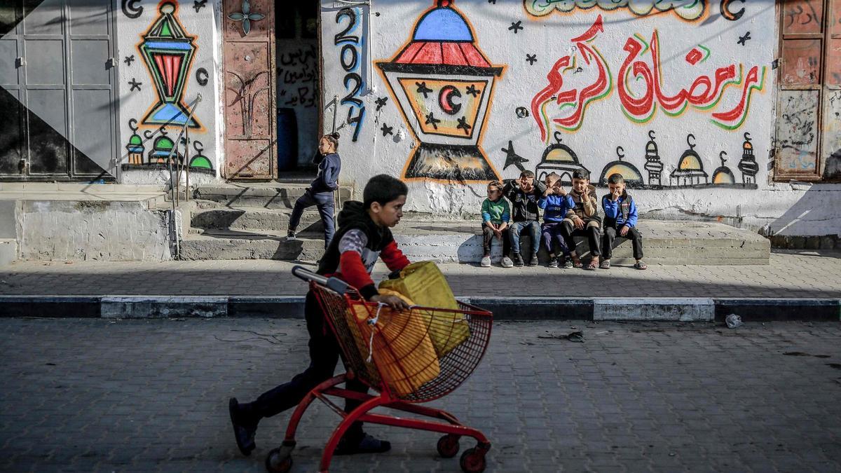
<svg viewBox="0 0 841 473"><path fill-rule="evenodd" d="M365 181L374 174L400 176L410 185L407 205L410 210L458 216L479 210L484 199L484 183L466 183L460 181L458 175L446 172L434 178L405 177L407 160L419 141L396 106L395 93L389 89L376 66L379 61L393 61L411 39L415 22L434 3L431 0L377 0L370 12L368 6L360 6L353 8L355 15L340 15L341 8L345 6L322 1L324 124L326 130L331 130L334 115L331 101L335 96L341 101L352 92L358 77L363 82L362 87L349 99L360 100L361 105L346 99L337 109L342 180L355 183L356 189L361 192ZM674 2L679 5L676 10L659 2L659 8L666 8L665 11L659 12L655 8L648 13L651 8L646 7L646 2L633 3L637 13L624 7L613 10L599 5L589 9L577 8L571 0L552 3L557 9L541 8L540 5L545 3L452 2L463 18L468 19L475 45L484 52L491 65L505 68L501 77L496 78L492 102L479 138L479 145L499 178L516 178L520 173L516 165L505 167L508 155L504 149L510 150L512 146L516 155L528 160L522 165L535 170L543 152L555 143L557 132L563 145L569 146L579 157L579 162L590 170L593 180L598 180L606 165L616 160L616 148L621 146L625 162L637 167L643 174L645 189L632 190L643 212L678 219L738 216L744 226L770 226L771 231L782 231L784 234L841 234L841 212L837 210L841 186L773 183L770 176L769 170L773 169L770 147L775 133L776 88L776 71L772 69L772 63L777 47L774 2L733 2L729 6L730 12L722 12L720 2L706 1L700 2L705 7L700 14L680 7L685 2ZM612 2L601 3L607 5ZM564 8L570 11L561 11ZM726 18L738 16L742 8L744 12L740 18ZM352 16L357 19L355 27L346 31L345 40L336 44L336 35L348 26ZM574 37L584 35L599 17L603 21L603 31L598 31L591 41L572 41ZM620 72L629 56L626 46L641 45L644 51L635 61L647 65L643 69L653 73L656 67L653 66L650 44L655 31L659 37L659 71L662 74L659 88L664 97L690 91L693 82L706 80L703 77L715 83L717 73L727 72L728 66L733 66L735 79L741 78L742 82L723 88L720 98L711 99L703 98L704 94L700 93L703 87L699 85L695 89L698 98L694 99L697 106L689 104L682 113L680 104L669 104L668 98L653 100L653 104L657 104L653 114L649 114L652 107L632 112L630 101L623 102L619 91ZM748 32L749 38L746 38ZM353 40L351 36L359 39ZM740 44L742 38L745 39ZM356 51L358 63L355 68L346 70L342 66L340 55L343 48L348 55L346 66L352 62L349 48ZM693 50L697 52L693 53ZM536 60L533 64L526 61L530 55ZM547 74L563 56L575 61L575 67L563 72L563 83L556 81L559 87L550 88ZM585 56L590 59L589 65ZM598 84L598 56L603 57L603 64L609 69L605 78L611 81L611 86L596 88L597 92L593 95L606 95L581 105L588 102L586 98L581 100L582 91ZM743 95L743 84L748 82L751 74L755 74L753 89ZM628 76L629 93L635 98L643 97L648 90L643 79L637 77L635 80L633 72ZM445 80L464 78L447 74L436 77ZM545 100L541 99L542 91L546 92L542 96ZM432 95L436 93L437 90ZM563 93L572 93L572 106L562 108L553 99ZM381 104L386 98L385 105L379 110L378 98ZM743 98L744 113L725 117L727 112L739 108ZM538 110L541 104L545 104L547 121L535 120L533 101ZM428 105L430 109L436 109L434 99ZM360 113L362 108L364 114ZM666 109L671 109L671 115L665 113ZM581 112L582 118L569 119L576 111ZM349 113L351 117L362 115L356 141L352 140L355 125L346 123ZM553 122L555 119L569 120L566 125L557 125ZM411 121L414 122L414 119ZM392 134L383 136L383 125L391 127ZM648 172L643 167L646 164L649 130L654 131L659 157L664 165L662 188L651 185ZM758 165L753 185L743 185L743 173L738 169L745 133L750 134ZM722 165L720 152L726 151L726 166L733 173L736 184L685 187L680 185L680 180L669 182L670 173L689 147L689 134L695 136L694 151L701 157L709 182L712 182L717 167ZM450 144L463 142L454 138L444 138L444 141ZM603 194L606 189L598 192Z"/></svg>

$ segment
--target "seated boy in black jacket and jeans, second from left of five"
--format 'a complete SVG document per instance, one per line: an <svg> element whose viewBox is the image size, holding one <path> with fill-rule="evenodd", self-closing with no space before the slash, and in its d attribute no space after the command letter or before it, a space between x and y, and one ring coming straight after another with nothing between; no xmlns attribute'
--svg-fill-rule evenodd
<svg viewBox="0 0 841 473"><path fill-rule="evenodd" d="M546 185L542 182L535 182L534 173L523 171L520 178L509 181L502 189L511 201L511 217L514 221L510 226L511 251L514 256L514 265L524 264L522 252L520 251L520 235L526 231L532 238L532 259L529 266L537 266L537 250L540 249L540 210L537 201L546 192Z"/></svg>

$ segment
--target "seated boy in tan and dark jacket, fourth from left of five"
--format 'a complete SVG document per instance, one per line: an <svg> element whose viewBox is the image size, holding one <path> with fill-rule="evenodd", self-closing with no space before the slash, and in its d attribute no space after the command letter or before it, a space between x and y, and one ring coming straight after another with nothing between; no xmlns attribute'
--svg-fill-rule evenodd
<svg viewBox="0 0 841 473"><path fill-rule="evenodd" d="M590 264L585 269L595 270L599 268L600 251L600 230L601 218L599 216L599 200L595 196L595 187L590 185L590 175L583 171L573 173L573 189L569 192L572 197L574 208L569 210L567 218L563 221L561 231L563 239L569 247L569 256L573 259L575 268L584 266L581 263L578 253L575 252L573 237L587 237L590 243Z"/></svg>

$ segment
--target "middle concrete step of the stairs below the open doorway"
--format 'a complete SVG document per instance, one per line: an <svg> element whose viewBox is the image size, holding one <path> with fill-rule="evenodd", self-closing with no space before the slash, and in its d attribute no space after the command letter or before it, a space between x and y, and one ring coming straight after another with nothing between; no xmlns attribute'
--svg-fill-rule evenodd
<svg viewBox="0 0 841 473"><path fill-rule="evenodd" d="M278 231L289 227L292 210L263 207L198 207L191 212L190 226L202 230ZM315 207L305 210L298 225L301 235L323 235L324 225Z"/></svg>

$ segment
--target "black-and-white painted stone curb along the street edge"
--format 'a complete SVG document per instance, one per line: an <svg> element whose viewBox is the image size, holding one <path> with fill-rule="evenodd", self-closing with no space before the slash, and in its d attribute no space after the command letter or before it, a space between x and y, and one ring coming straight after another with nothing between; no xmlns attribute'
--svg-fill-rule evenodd
<svg viewBox="0 0 841 473"><path fill-rule="evenodd" d="M841 299L460 297L494 312L496 320L841 322ZM247 317L303 318L304 296L0 295L0 317Z"/></svg>

